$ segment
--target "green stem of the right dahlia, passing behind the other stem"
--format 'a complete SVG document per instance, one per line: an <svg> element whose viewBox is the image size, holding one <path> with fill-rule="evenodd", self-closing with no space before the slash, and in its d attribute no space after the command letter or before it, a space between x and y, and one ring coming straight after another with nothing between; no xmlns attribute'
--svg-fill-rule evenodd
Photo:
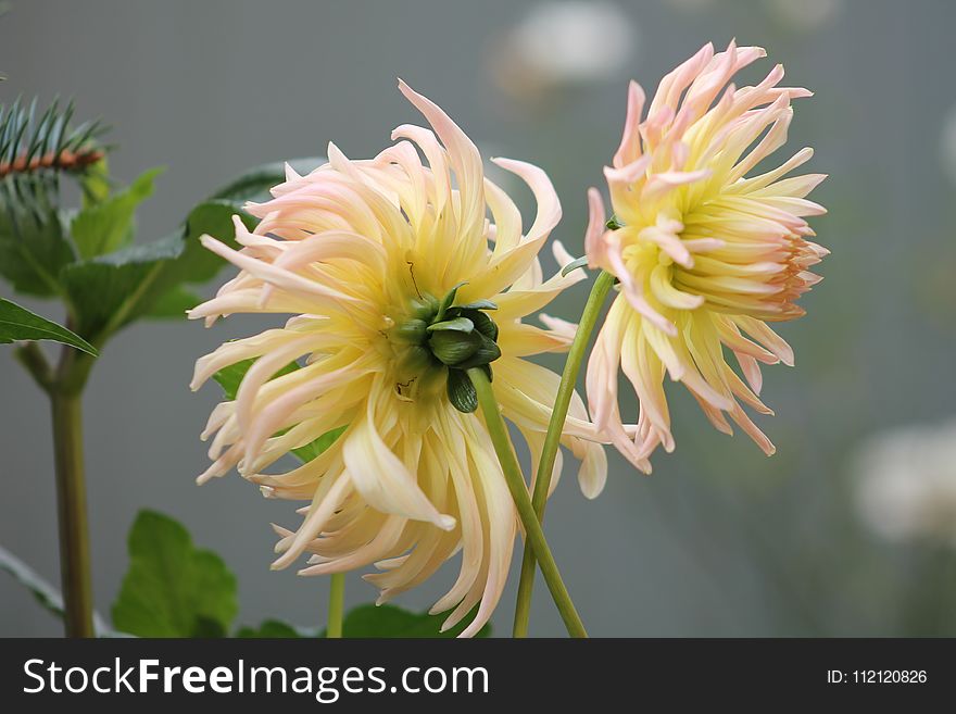
<svg viewBox="0 0 956 714"><path fill-rule="evenodd" d="M544 508L548 505L548 491L551 489L551 474L554 472L554 460L561 446L561 435L567 418L568 406L575 393L575 385L578 381L578 372L581 362L588 351L591 333L601 314L601 308L607 292L614 285L614 276L602 272L591 288L588 303L581 314L581 322L575 333L575 339L568 351L564 373L561 375L561 385L557 388L557 397L554 410L551 412L551 422L548 424L548 435L544 437L544 448L541 450L541 461L538 464L538 475L534 478L534 493L531 502L539 522L544 521ZM525 543L525 555L521 560L521 576L518 580L518 599L515 603L515 637L528 636L528 619L531 614L531 591L534 588L534 558L536 553L529 543Z"/></svg>

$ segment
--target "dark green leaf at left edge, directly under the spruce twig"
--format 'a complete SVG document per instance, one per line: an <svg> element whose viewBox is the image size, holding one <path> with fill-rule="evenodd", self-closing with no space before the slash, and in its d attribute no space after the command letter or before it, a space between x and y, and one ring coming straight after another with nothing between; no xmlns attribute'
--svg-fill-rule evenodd
<svg viewBox="0 0 956 714"><path fill-rule="evenodd" d="M55 209L27 210L10 200L0 201L0 275L14 290L41 297L58 295L56 276L75 259Z"/></svg>

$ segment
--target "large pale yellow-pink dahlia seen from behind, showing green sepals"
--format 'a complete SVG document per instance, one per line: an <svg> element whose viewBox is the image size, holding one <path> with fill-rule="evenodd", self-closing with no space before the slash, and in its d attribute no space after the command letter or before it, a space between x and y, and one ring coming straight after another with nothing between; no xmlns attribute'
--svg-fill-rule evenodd
<svg viewBox="0 0 956 714"><path fill-rule="evenodd" d="M241 250L203 237L240 273L191 317L294 316L197 363L193 389L223 367L256 359L236 400L210 417L203 438L215 435L214 463L199 480L235 466L268 497L310 501L297 530L277 528L273 567L304 552L312 560L302 575L375 564L380 572L365 579L380 589L379 602L461 550L458 578L432 612L453 610L448 628L480 602L468 636L498 603L518 521L488 431L473 413L465 369L493 369L505 416L537 454L558 377L524 358L566 349L574 327L542 315L542 329L521 318L580 277L542 278L538 253L561 217L544 172L496 161L538 201L523 235L518 210L485 178L475 145L436 104L400 88L438 138L400 126L392 139L404 140L369 161L351 161L329 145L328 164L307 176L290 170L272 200L248 206L262 220L253 233L236 218ZM559 263L570 261L559 243L554 251ZM276 376L300 360L301 368ZM341 428L314 460L265 473L290 450ZM577 398L563 443L582 460L579 480L590 497L606 475L595 438Z"/></svg>

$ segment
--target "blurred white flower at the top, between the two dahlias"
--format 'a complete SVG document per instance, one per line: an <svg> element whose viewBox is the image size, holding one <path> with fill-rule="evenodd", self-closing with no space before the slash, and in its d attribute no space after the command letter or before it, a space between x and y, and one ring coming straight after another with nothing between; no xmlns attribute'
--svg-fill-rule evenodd
<svg viewBox="0 0 956 714"><path fill-rule="evenodd" d="M495 82L516 97L615 78L629 63L637 29L612 2L542 2L492 48Z"/></svg>

